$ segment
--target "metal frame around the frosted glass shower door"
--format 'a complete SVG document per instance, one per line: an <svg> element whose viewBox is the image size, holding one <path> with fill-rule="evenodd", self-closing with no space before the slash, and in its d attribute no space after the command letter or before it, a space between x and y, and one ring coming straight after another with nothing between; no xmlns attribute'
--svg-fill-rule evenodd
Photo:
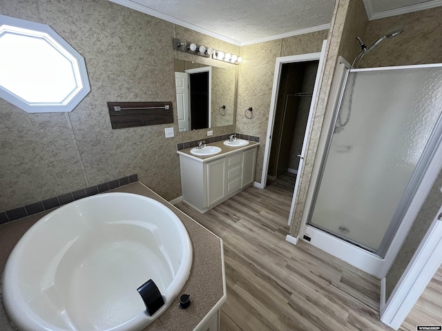
<svg viewBox="0 0 442 331"><path fill-rule="evenodd" d="M442 67L442 64L436 63L436 64L429 64L429 65L417 65L419 68L440 68ZM401 201L399 201L396 210L394 212L394 215L392 219L390 220L390 224L388 225L387 230L385 231L385 234L383 236L383 239L381 241L381 244L379 245L379 248L373 249L369 248L366 245L363 245L361 243L358 243L356 241L353 241L352 239L344 238L340 234L337 234L335 232L331 232L330 230L324 229L318 225L314 225L314 223L311 223L311 218L313 217L314 207L316 205L316 199L318 197L318 192L320 188L320 183L323 179L323 174L325 170L325 163L327 161L327 157L329 154L329 149L332 144L332 138L334 134L334 127L336 126L336 121L338 119L338 114L340 110L341 103L343 101L343 95L345 92L345 88L347 86L347 81L349 77L350 72L367 72L367 71L387 71L387 70L401 70L401 69L410 69L417 66L394 66L394 67L380 67L380 68L363 68L363 69L353 69L353 68L345 68L345 77L343 79L342 87L339 92L338 102L336 103L336 106L334 107L334 114L333 114L333 120L331 125L329 126L327 130L327 143L325 146L325 152L323 153L322 157L320 158L320 168L318 172L318 178L316 179L316 182L314 184L314 193L311 199L311 203L309 205L309 210L307 214L307 222L306 224L317 228L320 231L323 231L327 234L332 235L333 237L336 237L340 240L346 241L347 243L351 243L352 245L355 245L358 248L362 248L367 253L374 254L376 257L384 259L385 255L387 254L387 250L390 248L390 244L392 243L392 240L394 239L396 232L398 232L398 229L402 223L403 218L405 217L405 214L407 213L409 206L414 199L414 196L416 195L416 191L419 188L419 185L423 181L423 177L425 173L427 172L430 162L432 161L434 154L436 153L436 148L442 143L442 112L439 115L439 118L437 119L434 128L432 130L432 133L430 134L430 137L427 140L427 143L425 145L425 148L421 154L421 157L419 158L419 161L416 165L416 168L414 169L414 172L412 173L412 177L410 181L407 184L407 188L405 188L405 192L403 193L403 196L401 197ZM410 225L411 226L411 225Z"/></svg>

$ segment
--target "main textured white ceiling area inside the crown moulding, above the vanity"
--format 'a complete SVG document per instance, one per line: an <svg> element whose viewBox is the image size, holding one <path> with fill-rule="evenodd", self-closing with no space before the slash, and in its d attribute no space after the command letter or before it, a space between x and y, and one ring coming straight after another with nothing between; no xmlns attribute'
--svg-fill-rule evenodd
<svg viewBox="0 0 442 331"><path fill-rule="evenodd" d="M133 1L236 41L330 23L334 7L334 0Z"/></svg>

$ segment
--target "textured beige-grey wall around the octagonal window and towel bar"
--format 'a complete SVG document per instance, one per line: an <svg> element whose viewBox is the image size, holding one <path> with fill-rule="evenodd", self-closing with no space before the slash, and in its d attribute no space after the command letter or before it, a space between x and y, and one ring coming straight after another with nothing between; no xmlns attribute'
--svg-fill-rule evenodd
<svg viewBox="0 0 442 331"><path fill-rule="evenodd" d="M175 108L173 59L195 59L172 49L175 36L237 54L238 46L106 0L0 0L0 8L56 30L85 58L91 87L69 113L27 114L0 99L0 210L133 173L165 199L180 196L176 144L206 130L177 134L176 114L173 125L112 130L106 101L173 101ZM169 126L175 137L165 139Z"/></svg>

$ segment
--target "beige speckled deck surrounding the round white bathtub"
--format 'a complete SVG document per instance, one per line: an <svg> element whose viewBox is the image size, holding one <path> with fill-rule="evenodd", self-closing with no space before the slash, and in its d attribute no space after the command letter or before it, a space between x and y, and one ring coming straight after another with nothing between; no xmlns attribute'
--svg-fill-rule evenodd
<svg viewBox="0 0 442 331"><path fill-rule="evenodd" d="M193 246L191 274L172 305L143 331L193 330L213 307L216 306L219 309L227 299L222 240L140 182L131 183L108 192L135 193L160 201L171 208L184 223ZM48 212L50 211L40 212L0 225L0 270L2 273L8 256L17 241L32 224ZM186 310L178 308L182 294L191 295L191 305ZM0 330L15 331L6 316L3 301L0 306Z"/></svg>

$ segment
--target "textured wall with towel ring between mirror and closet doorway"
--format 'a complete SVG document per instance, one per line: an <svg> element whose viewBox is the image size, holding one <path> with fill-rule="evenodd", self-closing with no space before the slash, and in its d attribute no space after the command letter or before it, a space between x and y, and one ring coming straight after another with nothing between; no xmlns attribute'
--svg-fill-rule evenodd
<svg viewBox="0 0 442 331"><path fill-rule="evenodd" d="M299 36L267 41L241 48L241 63L238 74L238 110L236 132L247 132L260 137L256 163L255 181L261 182L262 165L269 122L271 90L276 57L320 52L327 30ZM246 119L244 111L253 108L253 118Z"/></svg>

